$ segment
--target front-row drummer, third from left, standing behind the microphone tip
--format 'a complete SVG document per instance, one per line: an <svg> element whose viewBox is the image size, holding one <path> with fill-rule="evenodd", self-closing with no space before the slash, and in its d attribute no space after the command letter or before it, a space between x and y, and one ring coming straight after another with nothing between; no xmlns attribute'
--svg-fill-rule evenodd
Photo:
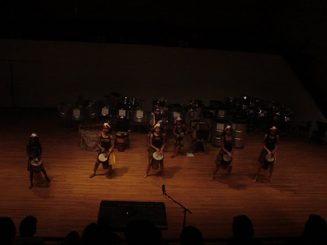
<svg viewBox="0 0 327 245"><path fill-rule="evenodd" d="M154 127L154 132L150 135L150 150L149 150L149 163L145 171L144 178L146 179L149 174L151 165L153 164L153 153L156 151L163 155L165 141L163 133L160 131L160 124L157 123ZM161 176L163 177L163 159L160 161Z"/></svg>

